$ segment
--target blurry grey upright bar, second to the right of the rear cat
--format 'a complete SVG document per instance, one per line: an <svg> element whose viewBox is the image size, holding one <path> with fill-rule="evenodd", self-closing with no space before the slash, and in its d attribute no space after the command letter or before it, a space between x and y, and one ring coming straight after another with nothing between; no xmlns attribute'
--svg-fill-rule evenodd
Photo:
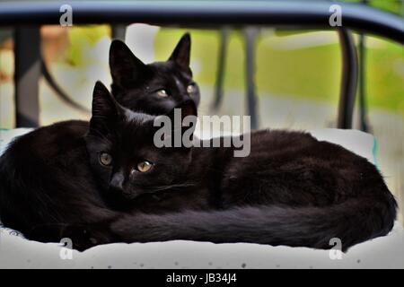
<svg viewBox="0 0 404 287"><path fill-rule="evenodd" d="M251 129L257 129L258 111L257 95L255 91L255 44L257 40L258 29L247 27L244 29L245 42L245 65L246 65L246 85L247 85L247 109L250 115Z"/></svg>

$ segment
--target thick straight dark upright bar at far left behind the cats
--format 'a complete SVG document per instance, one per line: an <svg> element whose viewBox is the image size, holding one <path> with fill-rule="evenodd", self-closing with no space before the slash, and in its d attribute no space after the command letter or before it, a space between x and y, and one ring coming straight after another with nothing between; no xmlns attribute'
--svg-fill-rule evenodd
<svg viewBox="0 0 404 287"><path fill-rule="evenodd" d="M39 126L40 27L18 27L14 39L15 125Z"/></svg>

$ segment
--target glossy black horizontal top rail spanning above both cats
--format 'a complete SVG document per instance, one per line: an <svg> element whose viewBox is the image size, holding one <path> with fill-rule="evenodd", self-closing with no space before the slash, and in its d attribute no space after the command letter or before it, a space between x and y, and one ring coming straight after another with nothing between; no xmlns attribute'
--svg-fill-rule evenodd
<svg viewBox="0 0 404 287"><path fill-rule="evenodd" d="M63 2L0 3L0 26L58 24ZM111 1L73 2L73 24L144 22L160 25L270 25L330 29L329 7L342 9L350 30L381 35L404 44L403 20L363 4L328 1Z"/></svg>

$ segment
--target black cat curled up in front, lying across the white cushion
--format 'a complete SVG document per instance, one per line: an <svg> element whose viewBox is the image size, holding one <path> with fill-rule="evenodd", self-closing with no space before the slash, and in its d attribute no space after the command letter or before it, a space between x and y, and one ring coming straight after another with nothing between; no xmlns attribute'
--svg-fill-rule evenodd
<svg viewBox="0 0 404 287"><path fill-rule="evenodd" d="M179 108L197 113L192 100ZM17 138L0 158L4 225L79 250L171 239L331 248L332 238L347 250L393 226L380 173L336 144L258 131L245 158L231 147L157 148L154 119L96 83L90 123Z"/></svg>

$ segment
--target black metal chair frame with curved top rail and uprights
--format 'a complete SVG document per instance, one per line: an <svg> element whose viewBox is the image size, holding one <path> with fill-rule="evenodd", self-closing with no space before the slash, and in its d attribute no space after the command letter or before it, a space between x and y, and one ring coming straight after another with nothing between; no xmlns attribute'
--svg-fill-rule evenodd
<svg viewBox="0 0 404 287"><path fill-rule="evenodd" d="M342 9L342 27L330 27L331 4ZM15 29L16 126L39 126L40 25L59 24L62 3L0 3L0 27ZM269 26L289 29L337 30L343 69L338 127L351 128L358 83L358 60L351 30L391 39L404 45L404 21L363 4L302 1L136 1L73 2L74 24L143 22L162 26L212 28ZM253 48L247 47L247 52ZM251 53L251 52L248 52ZM251 55L250 55L251 56ZM253 57L253 54L252 54ZM250 73L250 72L249 72ZM248 107L258 126L253 77L247 74ZM220 88L220 87L219 87Z"/></svg>

